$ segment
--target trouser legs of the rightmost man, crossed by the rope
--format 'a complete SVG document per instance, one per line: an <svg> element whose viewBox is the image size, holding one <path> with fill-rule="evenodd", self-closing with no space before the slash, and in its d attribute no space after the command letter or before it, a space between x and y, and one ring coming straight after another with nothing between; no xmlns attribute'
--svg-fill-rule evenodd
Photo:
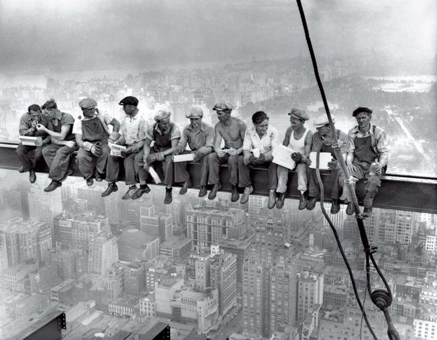
<svg viewBox="0 0 437 340"><path fill-rule="evenodd" d="M350 175L354 176L357 179L366 179L366 184L364 185L364 201L363 206L364 208L371 208L373 205L373 199L375 198L376 194L378 193L379 187L381 186L381 177L384 174L385 170L382 168L382 171L379 175L371 175L369 176L369 170L370 170L370 164L367 164L366 162L352 162L352 164L355 166L355 171L351 172ZM352 199L350 197L349 190L344 190L344 175L341 174L339 178L339 184L343 188L343 195L341 199L346 200L347 202L350 202Z"/></svg>

